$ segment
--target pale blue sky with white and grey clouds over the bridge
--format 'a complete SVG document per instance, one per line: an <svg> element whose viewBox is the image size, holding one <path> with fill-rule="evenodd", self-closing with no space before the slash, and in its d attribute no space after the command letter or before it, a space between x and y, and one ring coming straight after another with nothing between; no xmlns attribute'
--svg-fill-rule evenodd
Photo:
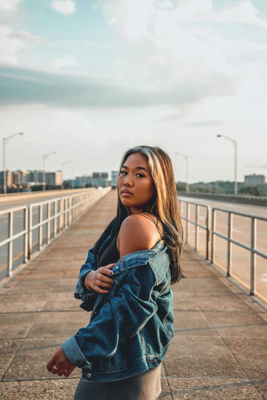
<svg viewBox="0 0 267 400"><path fill-rule="evenodd" d="M0 139L11 170L118 170L160 146L175 179L267 175L264 0L0 0ZM2 152L1 152L2 153ZM2 154L0 156L2 166Z"/></svg>

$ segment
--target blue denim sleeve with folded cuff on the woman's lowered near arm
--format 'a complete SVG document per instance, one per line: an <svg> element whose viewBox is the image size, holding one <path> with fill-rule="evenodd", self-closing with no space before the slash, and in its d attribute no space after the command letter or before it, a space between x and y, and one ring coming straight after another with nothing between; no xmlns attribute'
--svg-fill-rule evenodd
<svg viewBox="0 0 267 400"><path fill-rule="evenodd" d="M154 285L150 266L129 269L118 295L110 298L86 327L62 343L69 361L83 368L91 359L113 357L118 342L136 335L157 312L151 299Z"/></svg>

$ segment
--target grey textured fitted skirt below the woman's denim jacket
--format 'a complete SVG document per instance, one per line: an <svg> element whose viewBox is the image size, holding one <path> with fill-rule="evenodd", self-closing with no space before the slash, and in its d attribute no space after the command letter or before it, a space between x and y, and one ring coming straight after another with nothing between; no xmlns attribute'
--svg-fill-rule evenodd
<svg viewBox="0 0 267 400"><path fill-rule="evenodd" d="M81 377L74 400L155 400L161 391L160 364L119 381L90 382Z"/></svg>

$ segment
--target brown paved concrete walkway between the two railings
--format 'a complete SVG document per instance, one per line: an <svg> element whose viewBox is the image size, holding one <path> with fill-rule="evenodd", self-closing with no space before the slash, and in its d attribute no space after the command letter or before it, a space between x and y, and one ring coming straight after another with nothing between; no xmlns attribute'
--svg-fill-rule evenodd
<svg viewBox="0 0 267 400"><path fill-rule="evenodd" d="M73 400L80 369L59 378L46 364L89 321L73 293L115 213L112 191L0 292L1 400ZM186 279L171 286L175 334L159 398L267 400L267 313L195 253L185 250L183 266Z"/></svg>

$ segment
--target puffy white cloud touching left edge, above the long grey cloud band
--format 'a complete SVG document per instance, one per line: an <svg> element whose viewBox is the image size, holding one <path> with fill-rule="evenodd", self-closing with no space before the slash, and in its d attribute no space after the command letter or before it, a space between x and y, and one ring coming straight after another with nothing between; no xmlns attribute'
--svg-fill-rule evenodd
<svg viewBox="0 0 267 400"><path fill-rule="evenodd" d="M10 27L0 25L0 62L18 64L15 53L20 49L33 46L39 41L40 38L38 36L34 36L29 32L14 32Z"/></svg>

